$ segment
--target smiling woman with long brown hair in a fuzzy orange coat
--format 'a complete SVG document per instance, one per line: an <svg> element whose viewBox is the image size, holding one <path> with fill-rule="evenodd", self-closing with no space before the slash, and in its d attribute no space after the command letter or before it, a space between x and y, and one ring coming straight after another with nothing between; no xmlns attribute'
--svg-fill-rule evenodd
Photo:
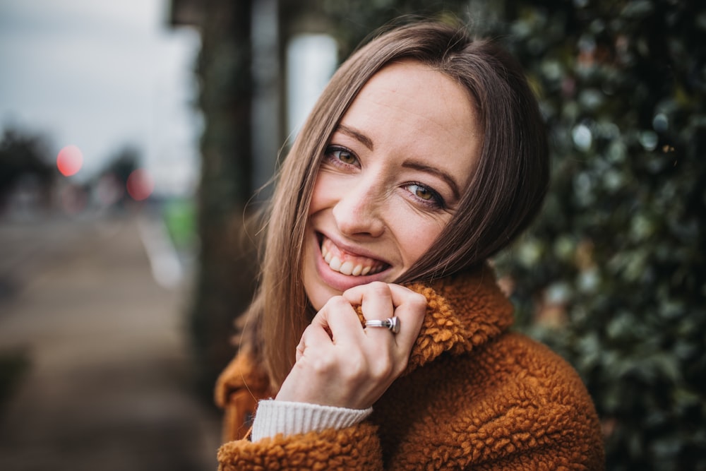
<svg viewBox="0 0 706 471"><path fill-rule="evenodd" d="M486 264L537 214L548 167L493 43L419 23L353 54L282 167L217 384L221 469L601 468L584 386L508 332Z"/></svg>

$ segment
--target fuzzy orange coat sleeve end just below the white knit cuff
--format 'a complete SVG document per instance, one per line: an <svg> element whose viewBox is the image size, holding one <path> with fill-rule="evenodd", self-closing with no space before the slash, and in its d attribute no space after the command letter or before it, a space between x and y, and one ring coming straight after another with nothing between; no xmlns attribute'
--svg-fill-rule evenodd
<svg viewBox="0 0 706 471"><path fill-rule="evenodd" d="M377 428L369 423L291 436L277 435L256 443L230 441L218 451L219 471L236 470L382 470Z"/></svg>

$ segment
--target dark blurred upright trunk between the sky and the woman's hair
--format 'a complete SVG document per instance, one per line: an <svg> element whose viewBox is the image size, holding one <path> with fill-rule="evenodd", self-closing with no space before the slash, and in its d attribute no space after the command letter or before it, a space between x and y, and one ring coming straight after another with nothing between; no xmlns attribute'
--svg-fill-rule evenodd
<svg viewBox="0 0 706 471"><path fill-rule="evenodd" d="M254 280L252 254L239 244L252 193L251 2L210 0L201 8L201 251L191 328L199 387L210 396L234 353L232 322L249 304Z"/></svg>

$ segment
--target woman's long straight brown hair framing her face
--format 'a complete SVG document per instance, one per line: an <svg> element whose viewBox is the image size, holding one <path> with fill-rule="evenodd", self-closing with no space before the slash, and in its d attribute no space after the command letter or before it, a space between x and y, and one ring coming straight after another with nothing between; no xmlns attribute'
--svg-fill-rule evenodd
<svg viewBox="0 0 706 471"><path fill-rule="evenodd" d="M460 210L397 282L428 281L477 266L517 237L542 204L549 181L546 133L517 62L493 42L442 23L415 23L378 35L342 64L323 91L285 158L266 213L261 285L248 314L258 337L253 347L273 391L294 364L297 342L311 320L301 256L325 146L369 78L400 59L431 66L464 86L484 137Z"/></svg>

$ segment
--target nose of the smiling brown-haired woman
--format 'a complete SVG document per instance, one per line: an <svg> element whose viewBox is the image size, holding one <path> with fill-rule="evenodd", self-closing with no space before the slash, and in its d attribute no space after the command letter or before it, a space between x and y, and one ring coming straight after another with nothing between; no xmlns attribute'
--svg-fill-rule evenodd
<svg viewBox="0 0 706 471"><path fill-rule="evenodd" d="M333 206L333 217L341 234L380 237L385 232L382 193L374 182L361 181L342 189Z"/></svg>

